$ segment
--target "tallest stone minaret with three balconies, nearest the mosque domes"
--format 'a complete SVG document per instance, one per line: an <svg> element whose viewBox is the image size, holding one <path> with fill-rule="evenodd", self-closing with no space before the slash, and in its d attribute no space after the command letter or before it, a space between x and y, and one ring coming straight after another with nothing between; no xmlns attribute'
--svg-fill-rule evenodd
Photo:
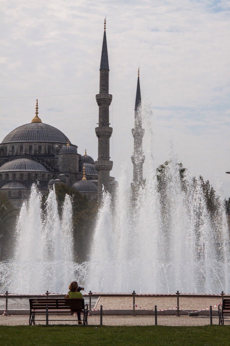
<svg viewBox="0 0 230 346"><path fill-rule="evenodd" d="M106 191L109 191L110 171L113 162L109 156L109 139L112 135L112 127L109 127L109 106L112 101L112 95L109 94L109 60L106 42L106 18L104 20L104 37L101 52L100 64L100 90L96 95L99 107L98 127L95 128L98 137L98 161L95 166L98 171L98 201L101 201L102 185Z"/></svg>

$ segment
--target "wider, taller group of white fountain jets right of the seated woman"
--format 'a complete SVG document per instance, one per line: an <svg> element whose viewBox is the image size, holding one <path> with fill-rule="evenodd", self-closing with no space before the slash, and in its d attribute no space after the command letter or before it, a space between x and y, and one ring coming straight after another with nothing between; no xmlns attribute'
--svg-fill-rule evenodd
<svg viewBox="0 0 230 346"><path fill-rule="evenodd" d="M181 177L172 143L168 164L157 174L148 104L142 116L146 182L132 201L126 168L115 200L104 193L88 287L96 292L229 292L229 230L221 184L215 186L216 209L211 215L201 181L188 171Z"/></svg>

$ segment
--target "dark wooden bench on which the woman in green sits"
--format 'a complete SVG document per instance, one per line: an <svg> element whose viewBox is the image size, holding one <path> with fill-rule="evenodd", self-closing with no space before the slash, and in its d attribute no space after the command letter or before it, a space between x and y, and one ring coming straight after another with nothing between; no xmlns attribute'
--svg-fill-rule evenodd
<svg viewBox="0 0 230 346"><path fill-rule="evenodd" d="M72 313L72 312L81 312L83 313L83 325L88 324L88 304L84 304L84 299L81 298L30 298L30 326L35 325L35 315L36 313L46 313L45 320L46 324L49 324L49 313ZM73 321L72 319L68 320L58 320L58 321ZM78 319L76 320L78 322Z"/></svg>

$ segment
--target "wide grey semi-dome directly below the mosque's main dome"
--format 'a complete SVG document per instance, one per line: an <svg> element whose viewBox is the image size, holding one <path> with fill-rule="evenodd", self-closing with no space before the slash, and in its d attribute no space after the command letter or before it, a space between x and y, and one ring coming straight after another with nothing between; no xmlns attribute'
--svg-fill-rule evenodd
<svg viewBox="0 0 230 346"><path fill-rule="evenodd" d="M0 167L0 172L9 171L36 171L36 172L48 172L47 169L42 166L41 163L30 160L29 158L16 158L16 160L4 163Z"/></svg>

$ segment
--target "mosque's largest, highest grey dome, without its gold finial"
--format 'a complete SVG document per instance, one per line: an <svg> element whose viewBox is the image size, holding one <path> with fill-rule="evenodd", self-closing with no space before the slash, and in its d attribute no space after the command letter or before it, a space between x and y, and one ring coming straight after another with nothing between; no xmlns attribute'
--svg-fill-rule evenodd
<svg viewBox="0 0 230 346"><path fill-rule="evenodd" d="M68 142L68 138L58 129L42 122L31 122L17 127L2 141L2 144L15 142ZM69 142L70 143L70 142ZM70 143L71 144L71 143Z"/></svg>

